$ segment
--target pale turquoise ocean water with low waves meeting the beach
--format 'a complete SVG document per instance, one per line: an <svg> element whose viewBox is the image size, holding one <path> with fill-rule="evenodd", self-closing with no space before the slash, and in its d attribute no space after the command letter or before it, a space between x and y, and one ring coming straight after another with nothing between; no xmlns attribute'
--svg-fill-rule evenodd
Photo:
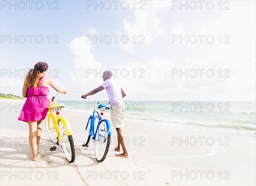
<svg viewBox="0 0 256 186"><path fill-rule="evenodd" d="M67 112L93 111L88 101L58 102ZM137 122L256 130L255 101L125 101L125 106L125 118Z"/></svg>

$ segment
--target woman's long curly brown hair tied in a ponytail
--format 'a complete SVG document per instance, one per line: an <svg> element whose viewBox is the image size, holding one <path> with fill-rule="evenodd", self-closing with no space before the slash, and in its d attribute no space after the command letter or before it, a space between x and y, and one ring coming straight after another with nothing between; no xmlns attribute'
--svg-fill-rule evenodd
<svg viewBox="0 0 256 186"><path fill-rule="evenodd" d="M38 81L40 79L40 74L48 70L48 65L46 62L38 62L35 64L34 69L30 69L26 75L26 84L28 87L37 87Z"/></svg>

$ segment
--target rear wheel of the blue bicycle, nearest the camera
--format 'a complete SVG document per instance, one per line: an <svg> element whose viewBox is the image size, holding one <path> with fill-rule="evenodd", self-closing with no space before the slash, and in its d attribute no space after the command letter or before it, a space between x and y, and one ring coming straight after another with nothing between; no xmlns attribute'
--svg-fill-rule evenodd
<svg viewBox="0 0 256 186"><path fill-rule="evenodd" d="M104 120L99 122L99 129L95 138L95 157L98 162L105 160L110 146L111 135L108 135L107 124Z"/></svg>

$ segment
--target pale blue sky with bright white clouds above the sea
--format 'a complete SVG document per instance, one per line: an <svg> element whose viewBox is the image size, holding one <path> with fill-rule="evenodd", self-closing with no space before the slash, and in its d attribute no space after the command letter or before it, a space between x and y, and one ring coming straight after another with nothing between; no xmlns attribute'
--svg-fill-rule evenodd
<svg viewBox="0 0 256 186"><path fill-rule="evenodd" d="M125 1L129 3L126 10L120 7L122 1L116 10L113 1L108 1L112 4L110 10L104 6L102 10L99 6L87 7L95 1L51 1L51 10L49 1L42 1L41 10L35 4L29 10L27 1L24 10L19 9L17 1L15 10L14 6L4 6L6 2L9 3L1 1L0 10L1 93L21 96L24 77L19 77L18 72L43 61L51 69L48 76L69 92L61 96L62 100L80 100L81 94L101 85L102 78L95 72L105 68L118 69L114 79L128 95L127 101L255 100L255 1L222 1L221 10L219 1L213 1L211 10L205 4L200 9L198 1L194 1L198 6L195 10L191 9L192 4L187 10L175 6L180 1ZM57 2L59 9L53 10ZM141 5L143 10L138 8ZM4 35L42 35L44 42L38 44L32 37L30 44L26 37L24 44L9 43ZM52 43L57 38L54 35L58 36L58 44ZM110 35L112 42L94 43L88 35ZM123 44L117 39L114 43L113 35L127 35L129 42ZM143 38L144 44L134 44L134 35L136 42ZM191 39L194 35L198 41L186 44L183 40L180 44L179 40L172 40L175 35ZM200 43L198 35L212 35L214 42L209 44L203 37ZM223 44L224 41L230 43ZM17 77L10 73L15 69ZM187 69L188 77L172 74L174 69ZM194 71L189 76L191 69L198 73L195 78L191 77ZM202 77L198 69L204 69ZM93 73L89 74L91 70ZM207 70L214 72L212 78L207 77ZM129 75L125 77L121 71ZM224 78L225 74L229 77ZM52 95L54 90L49 97ZM105 100L107 94L104 90L93 98Z"/></svg>

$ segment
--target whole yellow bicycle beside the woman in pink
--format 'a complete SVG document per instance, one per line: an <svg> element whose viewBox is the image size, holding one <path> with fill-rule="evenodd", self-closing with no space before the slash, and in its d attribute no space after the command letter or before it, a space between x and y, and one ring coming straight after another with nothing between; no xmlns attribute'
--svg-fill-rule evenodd
<svg viewBox="0 0 256 186"><path fill-rule="evenodd" d="M58 93L56 96L57 95ZM52 142L55 143L55 146L51 147L50 151L56 150L57 145L59 145L62 148L67 161L73 163L75 161L75 146L72 137L73 131L67 119L60 116L60 111L62 108L65 108L65 104L56 103L56 96L52 97L50 100L49 111L44 119L47 133Z"/></svg>

